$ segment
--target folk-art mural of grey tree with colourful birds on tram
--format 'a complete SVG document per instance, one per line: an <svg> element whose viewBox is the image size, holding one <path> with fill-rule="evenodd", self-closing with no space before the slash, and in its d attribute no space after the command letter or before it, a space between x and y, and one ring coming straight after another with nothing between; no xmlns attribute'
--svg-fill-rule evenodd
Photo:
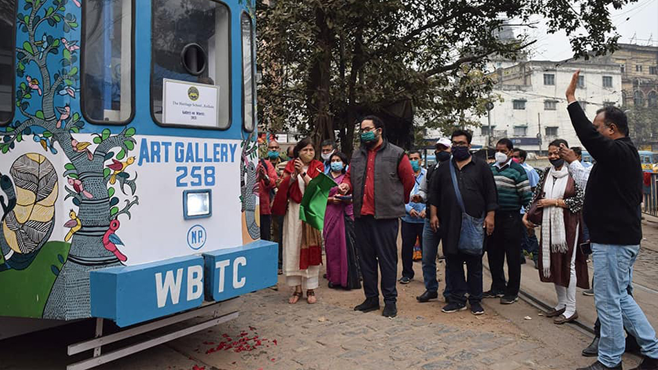
<svg viewBox="0 0 658 370"><path fill-rule="evenodd" d="M130 173L135 129L82 134L85 121L73 109L80 98L79 40L61 37L80 35L79 17L77 0L26 0L17 12L20 119L0 127L0 152L8 155L24 141L44 152L20 155L1 174L0 282L6 294L0 316L89 317L89 271L127 260L117 234L139 200L137 175ZM63 168L48 160L60 153ZM62 227L55 224L60 182L71 204L63 216L69 231L64 240L51 240L53 229Z"/></svg>

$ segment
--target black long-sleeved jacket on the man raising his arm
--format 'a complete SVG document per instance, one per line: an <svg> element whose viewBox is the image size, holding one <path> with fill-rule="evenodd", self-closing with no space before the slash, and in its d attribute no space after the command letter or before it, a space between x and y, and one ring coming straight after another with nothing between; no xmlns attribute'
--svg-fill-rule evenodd
<svg viewBox="0 0 658 370"><path fill-rule="evenodd" d="M639 245L642 168L637 149L628 136L612 140L599 134L578 103L567 110L578 139L596 160L583 206L592 243Z"/></svg>

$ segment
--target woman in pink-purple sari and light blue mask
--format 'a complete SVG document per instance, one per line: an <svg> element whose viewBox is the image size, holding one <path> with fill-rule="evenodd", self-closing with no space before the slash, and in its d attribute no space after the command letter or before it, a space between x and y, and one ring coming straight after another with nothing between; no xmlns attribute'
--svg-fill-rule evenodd
<svg viewBox="0 0 658 370"><path fill-rule="evenodd" d="M336 184L343 181L348 159L341 152L330 157L331 177ZM338 186L329 191L324 214L323 238L327 256L329 288L360 289L359 263L354 246L352 200L338 193Z"/></svg>

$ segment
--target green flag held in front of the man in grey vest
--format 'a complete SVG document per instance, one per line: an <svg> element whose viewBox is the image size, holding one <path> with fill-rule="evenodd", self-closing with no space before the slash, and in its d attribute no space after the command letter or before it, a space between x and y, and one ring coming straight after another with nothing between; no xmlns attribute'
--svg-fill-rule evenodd
<svg viewBox="0 0 658 370"><path fill-rule="evenodd" d="M336 186L336 182L327 175L320 173L312 179L301 200L299 219L310 224L315 229L324 227L324 211L327 209L329 191Z"/></svg>

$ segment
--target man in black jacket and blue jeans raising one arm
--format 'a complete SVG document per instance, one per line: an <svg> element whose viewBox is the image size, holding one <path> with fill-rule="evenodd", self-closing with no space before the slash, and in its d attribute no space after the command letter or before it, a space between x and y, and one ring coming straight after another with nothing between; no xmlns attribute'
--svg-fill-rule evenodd
<svg viewBox="0 0 658 370"><path fill-rule="evenodd" d="M578 139L596 164L585 189L585 224L594 260L594 301L601 320L598 360L578 370L621 369L624 326L637 338L644 359L635 369L658 369L658 340L651 324L628 294L633 263L640 249L642 169L628 137L626 115L604 107L590 123L576 100L580 71L567 88L567 107Z"/></svg>

